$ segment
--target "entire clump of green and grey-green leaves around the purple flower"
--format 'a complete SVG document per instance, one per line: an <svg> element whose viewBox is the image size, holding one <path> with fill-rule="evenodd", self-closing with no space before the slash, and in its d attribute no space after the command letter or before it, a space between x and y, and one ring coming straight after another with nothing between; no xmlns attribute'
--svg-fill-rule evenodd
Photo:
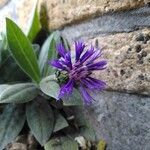
<svg viewBox="0 0 150 150"><path fill-rule="evenodd" d="M7 18L6 35L0 36L0 150L27 125L45 150L78 150L76 136L95 136L78 111L82 101L77 89L58 101L60 83L48 61L58 57L57 43L70 48L58 31L36 40L42 28L35 6L28 35Z"/></svg>

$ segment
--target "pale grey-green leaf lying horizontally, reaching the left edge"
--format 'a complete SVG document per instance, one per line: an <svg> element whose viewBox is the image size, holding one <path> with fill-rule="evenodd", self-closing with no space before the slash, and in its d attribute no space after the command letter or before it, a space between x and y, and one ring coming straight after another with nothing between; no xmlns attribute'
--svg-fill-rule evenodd
<svg viewBox="0 0 150 150"><path fill-rule="evenodd" d="M33 83L20 83L0 86L0 103L25 103L38 95Z"/></svg>

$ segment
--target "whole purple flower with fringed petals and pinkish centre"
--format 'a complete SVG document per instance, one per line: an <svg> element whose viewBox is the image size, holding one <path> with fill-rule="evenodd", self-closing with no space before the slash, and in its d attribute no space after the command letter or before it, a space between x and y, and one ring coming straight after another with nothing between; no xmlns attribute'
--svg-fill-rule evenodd
<svg viewBox="0 0 150 150"><path fill-rule="evenodd" d="M66 51L62 44L57 45L57 51L60 55L59 59L53 60L50 64L65 71L68 74L68 81L60 88L59 99L65 95L70 95L74 87L78 87L83 97L84 103L90 104L94 99L89 94L94 90L103 90L106 87L104 81L91 77L93 71L104 70L107 62L105 60L98 61L101 51L93 46L87 46L81 42L75 42L75 58L71 57L71 52Z"/></svg>

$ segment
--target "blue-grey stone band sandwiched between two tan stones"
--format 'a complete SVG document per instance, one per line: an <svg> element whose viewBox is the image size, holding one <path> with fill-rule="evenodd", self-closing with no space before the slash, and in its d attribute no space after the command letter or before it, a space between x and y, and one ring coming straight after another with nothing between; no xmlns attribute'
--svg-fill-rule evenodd
<svg viewBox="0 0 150 150"><path fill-rule="evenodd" d="M131 32L150 27L150 7L136 10L108 13L81 24L65 27L62 34L69 40L88 39L102 34Z"/></svg>

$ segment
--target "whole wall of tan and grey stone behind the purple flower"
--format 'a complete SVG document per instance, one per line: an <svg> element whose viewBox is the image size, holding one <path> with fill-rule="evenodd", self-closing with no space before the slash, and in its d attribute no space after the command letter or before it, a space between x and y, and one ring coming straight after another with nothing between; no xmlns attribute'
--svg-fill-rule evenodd
<svg viewBox="0 0 150 150"><path fill-rule="evenodd" d="M14 2L1 8L0 13L14 4L16 9L9 11L10 16L25 30L35 1L21 0L16 5ZM83 39L94 44L108 60L107 70L95 73L107 82L107 91L99 93L96 102L85 108L97 137L106 140L107 150L150 149L149 3L149 0L39 1L39 10L41 4L47 8L49 30L60 30L69 43Z"/></svg>

